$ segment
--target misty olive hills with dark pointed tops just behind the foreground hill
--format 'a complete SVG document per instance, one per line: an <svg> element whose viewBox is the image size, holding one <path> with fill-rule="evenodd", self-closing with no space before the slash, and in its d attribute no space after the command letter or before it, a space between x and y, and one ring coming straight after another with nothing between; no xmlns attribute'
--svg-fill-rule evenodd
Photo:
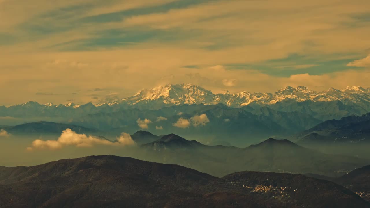
<svg viewBox="0 0 370 208"><path fill-rule="evenodd" d="M144 154L137 155L139 158L179 164L216 176L244 170L339 176L343 171L354 170L369 163L361 158L324 154L289 140L273 138L246 148L237 148L203 145L169 134L143 144L141 148Z"/></svg>

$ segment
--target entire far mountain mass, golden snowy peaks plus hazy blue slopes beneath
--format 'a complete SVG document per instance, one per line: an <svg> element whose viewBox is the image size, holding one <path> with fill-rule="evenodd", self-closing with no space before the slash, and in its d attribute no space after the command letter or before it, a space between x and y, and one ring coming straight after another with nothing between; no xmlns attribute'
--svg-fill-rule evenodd
<svg viewBox="0 0 370 208"><path fill-rule="evenodd" d="M30 101L0 107L0 124L9 125L9 118L13 123L45 120L98 129L108 132L104 136L114 138L121 132L132 134L141 130L137 121L146 118L152 124L144 130L157 135L174 132L186 137L209 136L218 143L229 137L230 144L244 146L262 138L296 134L326 120L360 116L369 111L369 91L357 86L323 92L287 86L275 93L213 94L200 86L174 84L142 90L110 103L54 105ZM190 120L201 114L209 118L205 126L174 126L180 118ZM157 121L158 117L166 120Z"/></svg>

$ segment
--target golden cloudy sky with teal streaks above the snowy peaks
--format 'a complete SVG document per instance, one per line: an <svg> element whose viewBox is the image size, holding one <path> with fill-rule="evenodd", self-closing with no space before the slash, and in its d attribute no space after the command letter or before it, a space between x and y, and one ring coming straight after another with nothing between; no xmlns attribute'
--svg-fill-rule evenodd
<svg viewBox="0 0 370 208"><path fill-rule="evenodd" d="M369 87L369 0L0 0L0 105Z"/></svg>

